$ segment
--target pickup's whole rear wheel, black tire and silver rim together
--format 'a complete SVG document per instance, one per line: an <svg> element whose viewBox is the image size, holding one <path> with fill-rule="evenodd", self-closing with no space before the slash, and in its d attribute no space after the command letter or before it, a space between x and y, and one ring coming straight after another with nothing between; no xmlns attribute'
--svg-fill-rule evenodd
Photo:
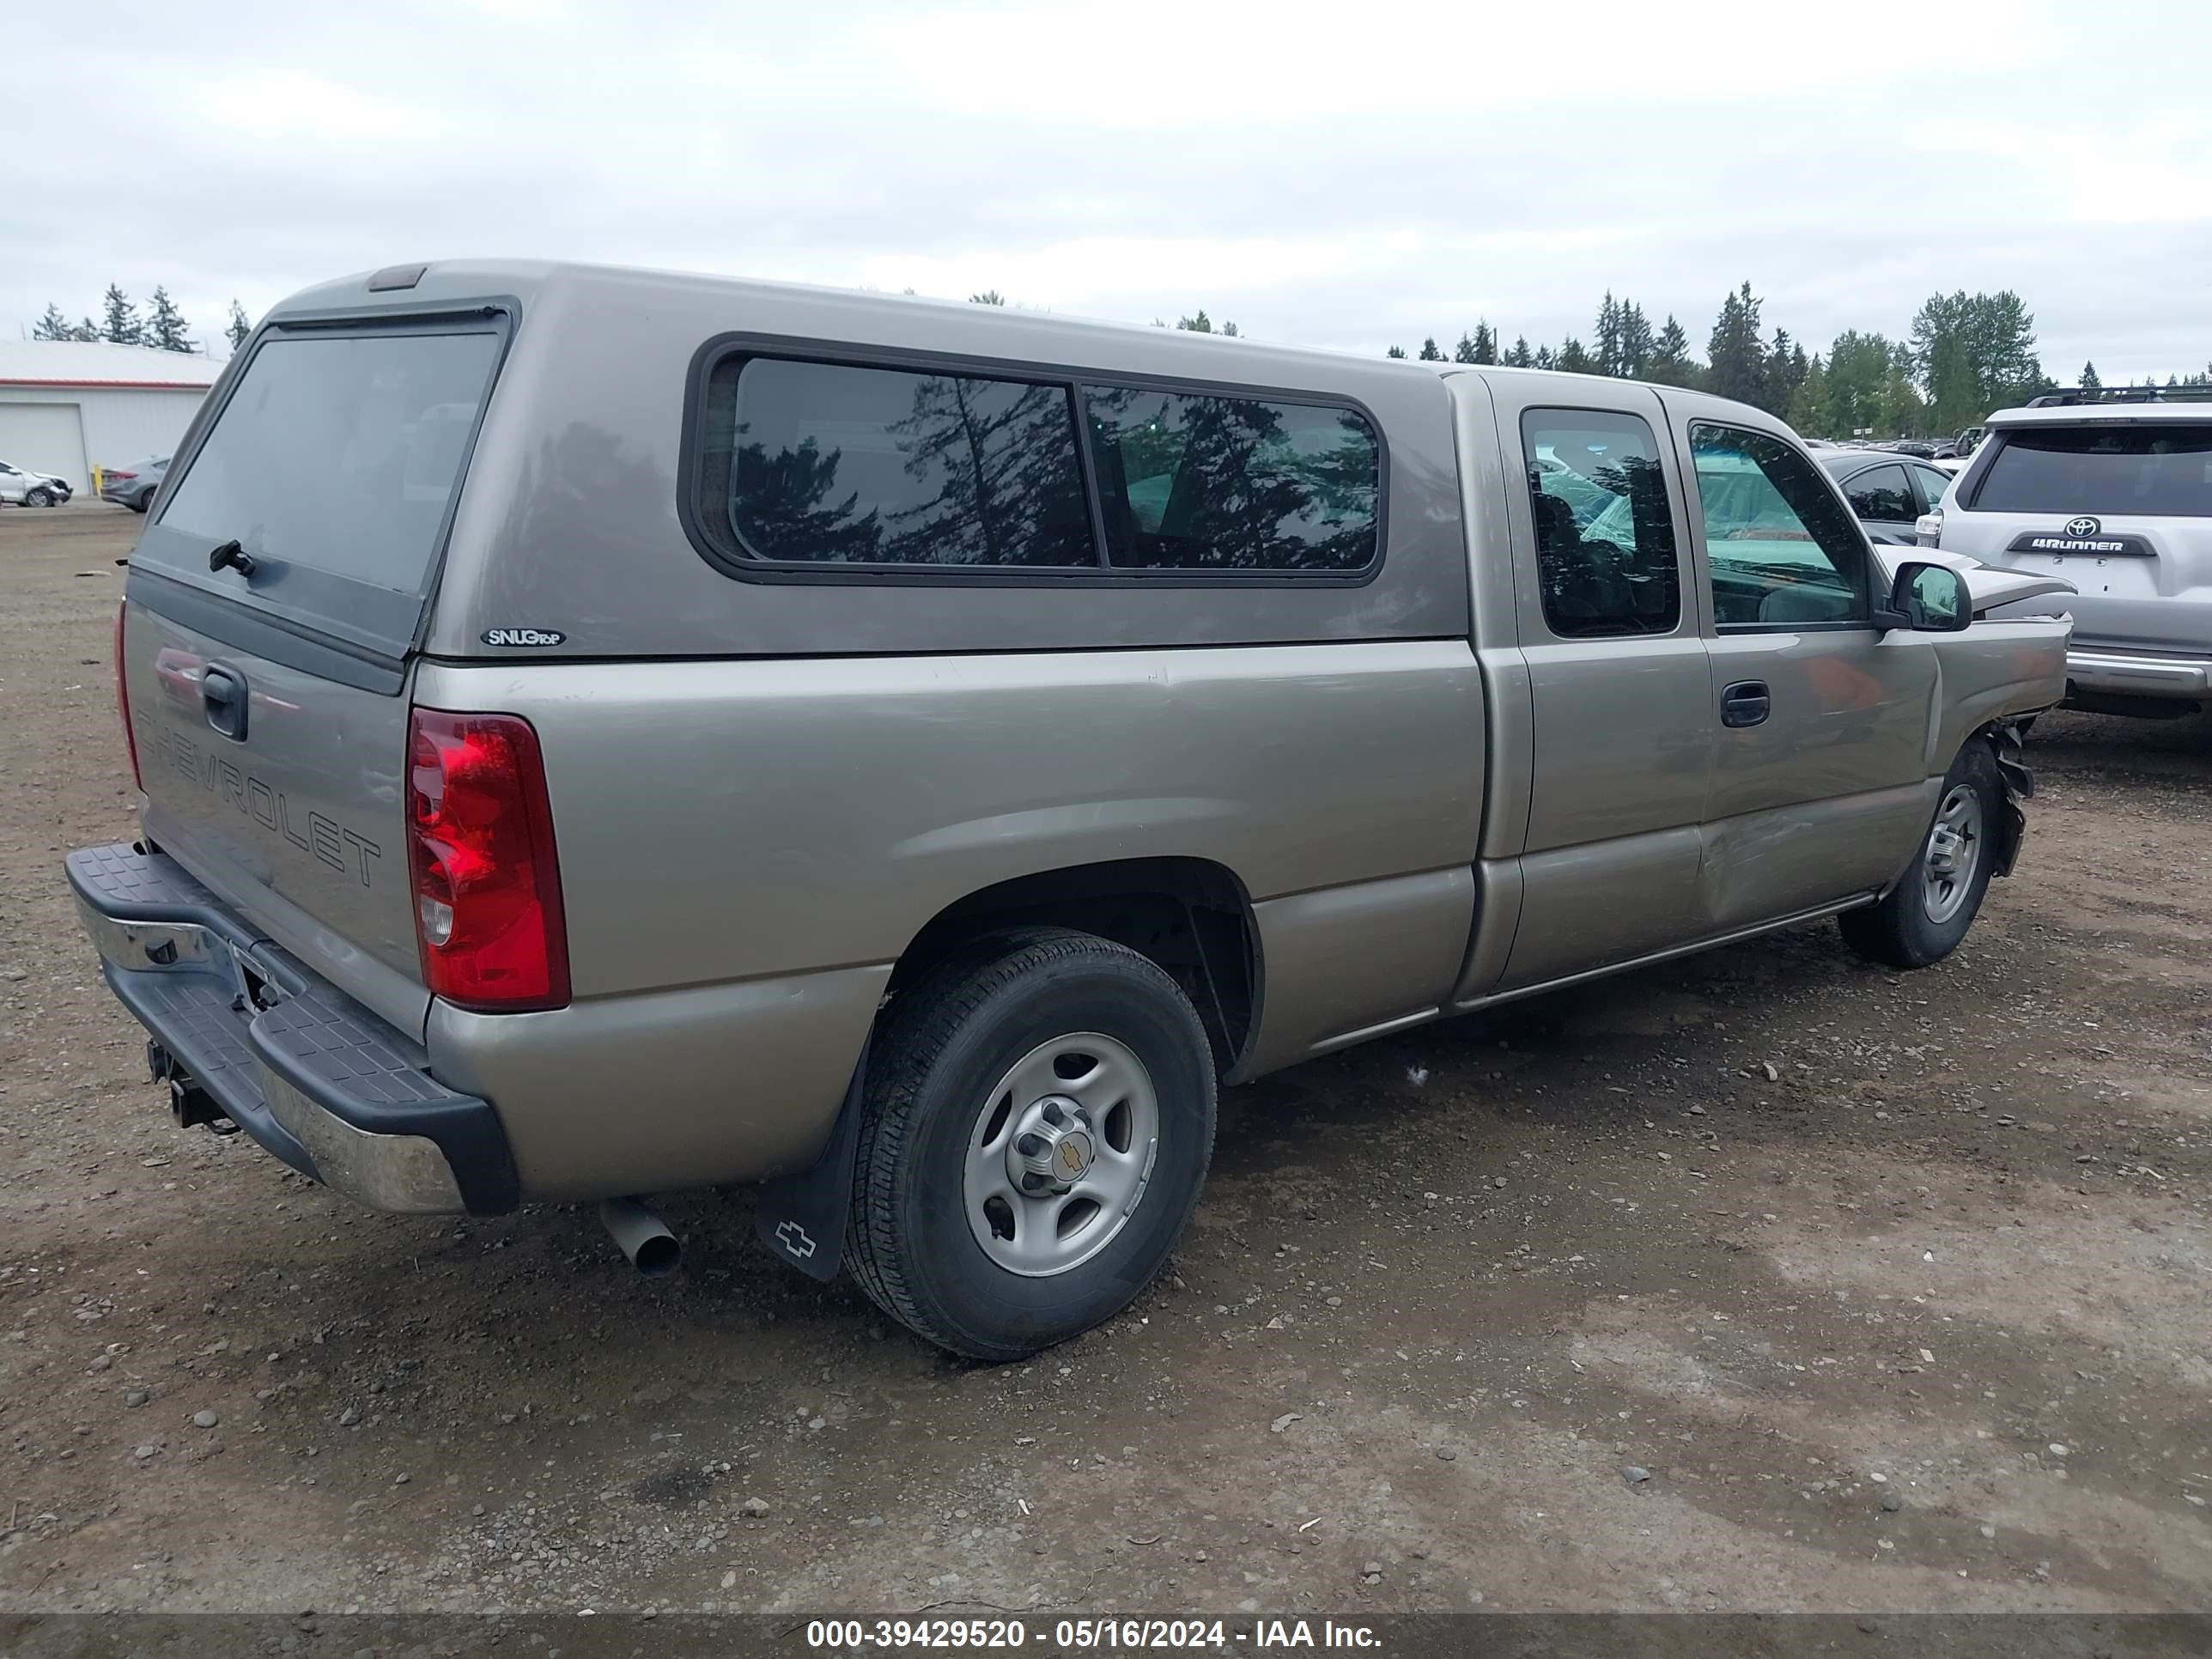
<svg viewBox="0 0 2212 1659"><path fill-rule="evenodd" d="M1015 1360L1137 1298L1212 1144L1212 1048L1150 958L1064 929L987 940L885 1011L847 1261L918 1336Z"/></svg>

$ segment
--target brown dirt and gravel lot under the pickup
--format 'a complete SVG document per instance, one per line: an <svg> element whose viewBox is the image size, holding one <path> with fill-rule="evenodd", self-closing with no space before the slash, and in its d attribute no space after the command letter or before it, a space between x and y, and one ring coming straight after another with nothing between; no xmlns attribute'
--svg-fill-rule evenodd
<svg viewBox="0 0 2212 1659"><path fill-rule="evenodd" d="M0 1608L2212 1606L2212 723L2046 719L1927 973L1812 927L1234 1091L1172 1276L975 1369L745 1194L648 1283L170 1128L60 876L137 524L0 513Z"/></svg>

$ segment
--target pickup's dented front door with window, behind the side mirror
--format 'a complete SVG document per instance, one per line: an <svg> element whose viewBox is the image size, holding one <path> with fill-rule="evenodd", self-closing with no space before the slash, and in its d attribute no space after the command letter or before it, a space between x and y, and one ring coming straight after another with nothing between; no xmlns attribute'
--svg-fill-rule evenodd
<svg viewBox="0 0 2212 1659"><path fill-rule="evenodd" d="M1699 896L1728 931L1905 869L1933 812L1938 635L1874 628L1867 538L1787 431L1688 398L1670 414L1719 717Z"/></svg>

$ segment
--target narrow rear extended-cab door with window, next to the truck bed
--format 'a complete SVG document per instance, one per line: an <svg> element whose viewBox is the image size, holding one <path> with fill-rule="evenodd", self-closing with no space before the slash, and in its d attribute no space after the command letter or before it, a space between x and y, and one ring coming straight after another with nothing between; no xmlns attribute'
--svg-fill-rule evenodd
<svg viewBox="0 0 2212 1659"><path fill-rule="evenodd" d="M1533 730L1520 925L1495 987L1469 991L1557 980L1705 931L1699 825L1717 723L1657 394L1520 376L1498 376L1491 394Z"/></svg>

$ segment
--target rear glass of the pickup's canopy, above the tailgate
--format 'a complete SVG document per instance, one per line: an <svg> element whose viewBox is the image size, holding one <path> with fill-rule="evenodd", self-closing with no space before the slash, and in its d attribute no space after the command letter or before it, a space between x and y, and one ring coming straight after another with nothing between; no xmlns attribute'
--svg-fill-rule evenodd
<svg viewBox="0 0 2212 1659"><path fill-rule="evenodd" d="M418 593L498 352L489 330L265 341L161 524Z"/></svg>

